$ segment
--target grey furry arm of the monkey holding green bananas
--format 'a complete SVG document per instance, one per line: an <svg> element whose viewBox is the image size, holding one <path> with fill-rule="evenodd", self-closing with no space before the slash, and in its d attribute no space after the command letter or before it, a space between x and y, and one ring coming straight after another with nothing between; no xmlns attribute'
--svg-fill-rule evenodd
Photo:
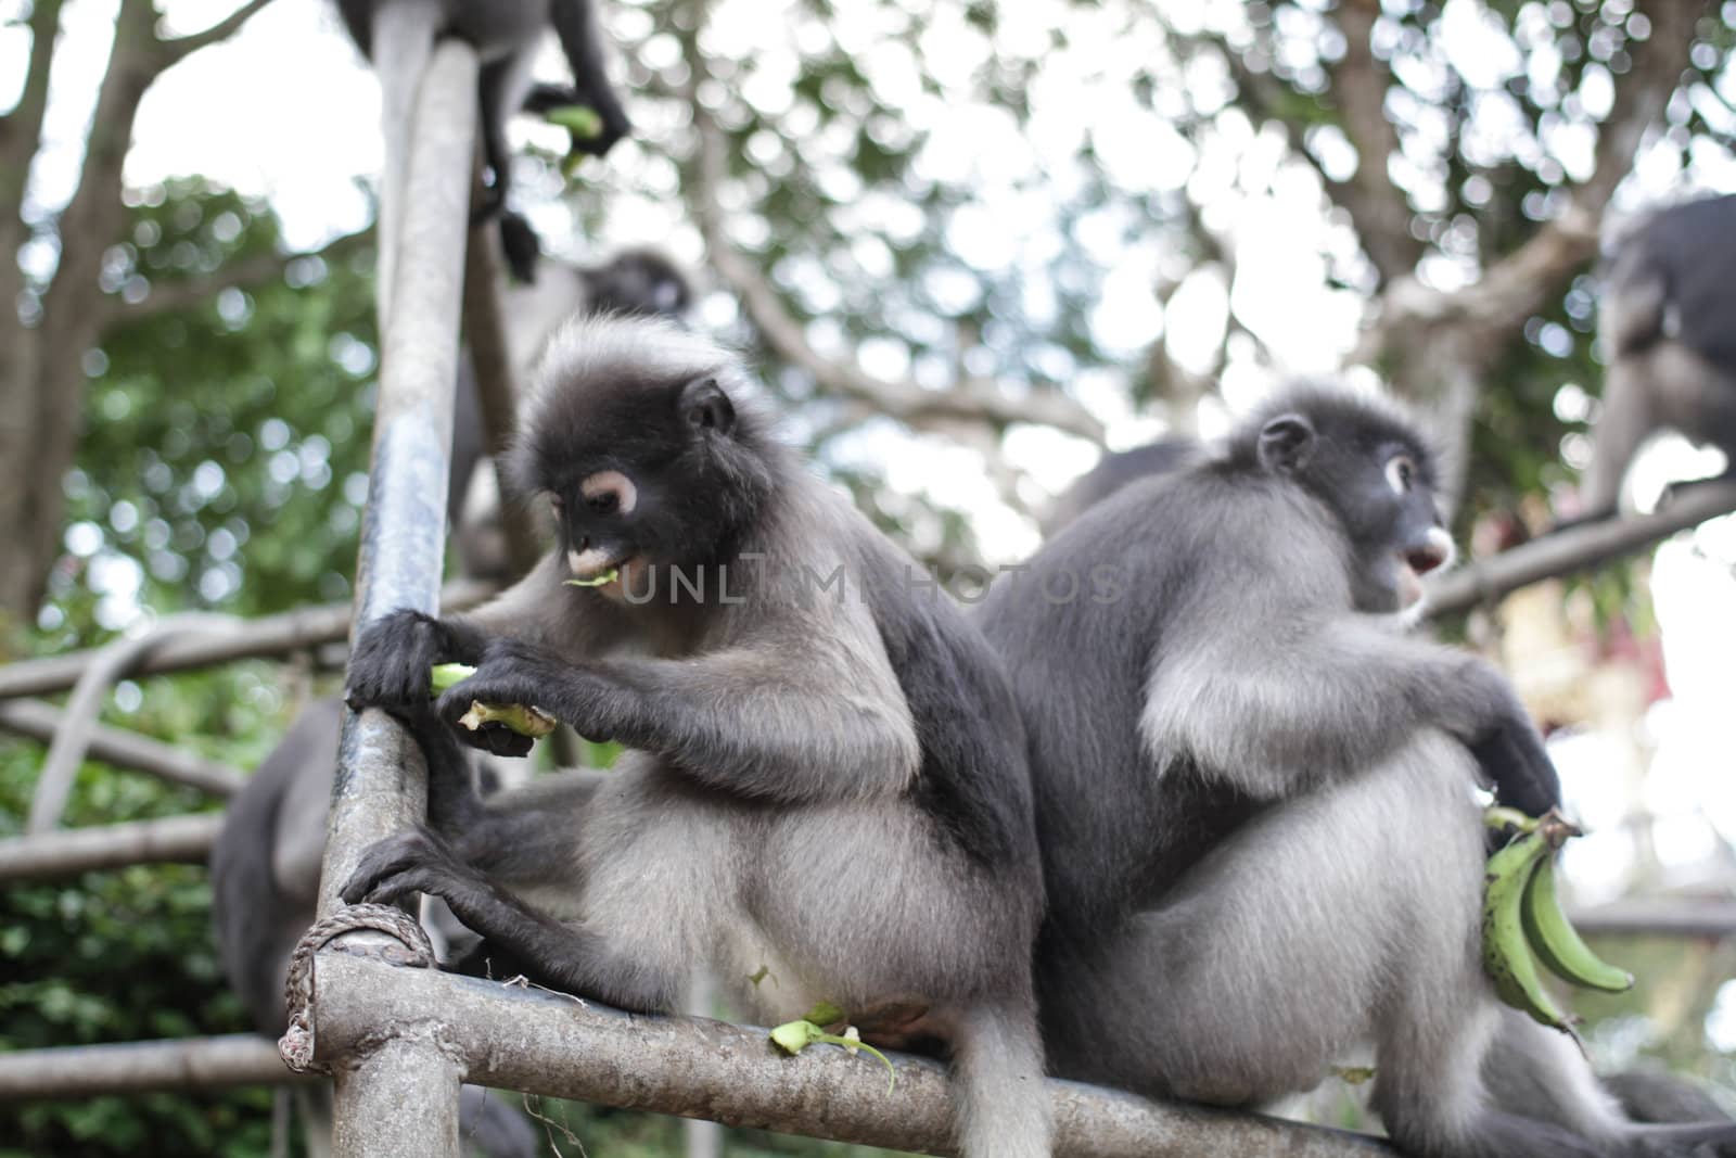
<svg viewBox="0 0 1736 1158"><path fill-rule="evenodd" d="M1165 644L1141 733L1160 766L1186 755L1257 799L1349 776L1418 727L1462 740L1503 804L1561 802L1555 769L1505 677L1483 660L1408 639L1378 616L1222 618ZM1207 630L1210 628L1210 630Z"/></svg>

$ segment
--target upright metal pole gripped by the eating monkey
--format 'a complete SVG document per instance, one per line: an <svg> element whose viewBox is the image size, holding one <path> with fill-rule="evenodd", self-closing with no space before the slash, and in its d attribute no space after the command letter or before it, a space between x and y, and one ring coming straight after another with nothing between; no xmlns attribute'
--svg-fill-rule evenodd
<svg viewBox="0 0 1736 1158"><path fill-rule="evenodd" d="M476 148L476 52L441 43L417 97L410 182L401 205L385 333L373 465L356 566L352 632L398 608L437 611L446 538L446 470L458 311ZM319 913L375 840L427 814L427 767L415 741L384 712L345 712L319 875ZM356 934L352 934L356 936ZM314 1024L319 981L314 967ZM372 1049L339 1059L339 1158L457 1158L462 1059L429 1023L378 1026Z"/></svg>

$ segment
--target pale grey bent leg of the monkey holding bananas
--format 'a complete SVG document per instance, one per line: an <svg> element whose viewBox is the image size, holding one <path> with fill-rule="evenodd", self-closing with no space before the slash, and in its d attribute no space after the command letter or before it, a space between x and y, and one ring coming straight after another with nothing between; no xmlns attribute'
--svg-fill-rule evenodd
<svg viewBox="0 0 1736 1158"><path fill-rule="evenodd" d="M1420 733L1248 823L1118 943L1076 962L1050 948L1052 1068L1260 1104L1311 1089L1371 1038L1375 1102L1408 1153L1606 1153L1488 1104L1479 1066L1496 1002L1477 946L1472 774L1462 745Z"/></svg>

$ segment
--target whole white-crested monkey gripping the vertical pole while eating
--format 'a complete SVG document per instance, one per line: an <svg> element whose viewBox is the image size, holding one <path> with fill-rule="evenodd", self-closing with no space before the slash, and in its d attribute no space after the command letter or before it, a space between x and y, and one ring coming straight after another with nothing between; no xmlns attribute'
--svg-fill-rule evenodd
<svg viewBox="0 0 1736 1158"><path fill-rule="evenodd" d="M632 1010L677 1009L705 962L753 1016L828 1000L866 1040L944 1042L962 1153L1049 1153L1042 873L988 644L774 439L734 354L668 323L562 330L512 465L557 550L474 615L398 611L356 644L351 703L418 733L431 830L368 851L344 898L432 892L528 974ZM477 672L431 710L444 661ZM583 802L483 804L450 726L472 700L632 752ZM762 967L778 986L748 984Z"/></svg>

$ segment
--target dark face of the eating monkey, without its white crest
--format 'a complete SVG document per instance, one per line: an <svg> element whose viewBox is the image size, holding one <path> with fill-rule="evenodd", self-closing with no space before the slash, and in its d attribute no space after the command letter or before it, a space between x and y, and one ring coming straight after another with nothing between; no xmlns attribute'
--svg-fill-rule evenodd
<svg viewBox="0 0 1736 1158"><path fill-rule="evenodd" d="M606 595L651 590L651 568L719 561L757 507L752 446L715 377L575 382L533 422L519 481L549 497L573 578Z"/></svg>

